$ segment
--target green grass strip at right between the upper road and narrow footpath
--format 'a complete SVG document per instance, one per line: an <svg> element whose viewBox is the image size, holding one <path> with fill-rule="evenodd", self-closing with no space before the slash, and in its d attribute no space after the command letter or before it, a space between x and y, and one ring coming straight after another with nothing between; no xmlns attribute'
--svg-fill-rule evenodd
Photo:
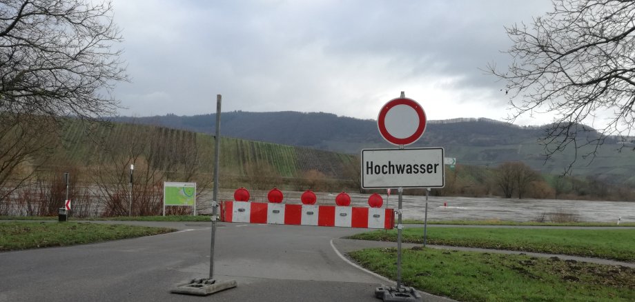
<svg viewBox="0 0 635 302"><path fill-rule="evenodd" d="M407 228L403 242L423 243L422 228ZM522 252L569 254L635 262L635 230L520 228L428 228L427 243ZM396 230L356 234L351 239L396 241Z"/></svg>

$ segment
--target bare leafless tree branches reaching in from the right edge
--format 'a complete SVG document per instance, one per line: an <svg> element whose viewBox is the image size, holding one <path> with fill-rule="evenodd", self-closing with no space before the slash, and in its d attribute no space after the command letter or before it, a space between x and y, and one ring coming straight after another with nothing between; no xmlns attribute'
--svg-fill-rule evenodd
<svg viewBox="0 0 635 302"><path fill-rule="evenodd" d="M554 0L553 10L531 25L506 30L513 61L507 70L494 63L487 69L506 83L511 121L553 114L542 139L547 159L574 148L567 173L576 160L594 159L607 137L629 139L635 130L635 1ZM599 132L585 126L596 117Z"/></svg>

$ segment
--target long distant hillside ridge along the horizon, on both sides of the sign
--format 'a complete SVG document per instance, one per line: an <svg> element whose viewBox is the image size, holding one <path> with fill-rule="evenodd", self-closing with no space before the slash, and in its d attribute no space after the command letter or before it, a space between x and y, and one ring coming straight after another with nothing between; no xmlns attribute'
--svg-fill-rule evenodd
<svg viewBox="0 0 635 302"><path fill-rule="evenodd" d="M166 114L155 117L113 117L112 121L213 134L215 118L216 114L191 117ZM325 112L223 112L221 124L224 137L346 154L360 154L362 149L395 147L380 136L377 121L339 117ZM455 157L460 164L495 168L506 161L522 161L540 172L561 174L575 158L575 150L569 148L547 161L544 147L538 142L546 129L547 125L520 126L485 118L427 121L421 139L408 147L443 147L445 156ZM597 135L597 132L590 130L580 139ZM635 185L635 176L630 172L635 169L635 152L616 152L621 145L617 139L608 138L594 161L590 162L589 158L576 161L572 174L610 183Z"/></svg>

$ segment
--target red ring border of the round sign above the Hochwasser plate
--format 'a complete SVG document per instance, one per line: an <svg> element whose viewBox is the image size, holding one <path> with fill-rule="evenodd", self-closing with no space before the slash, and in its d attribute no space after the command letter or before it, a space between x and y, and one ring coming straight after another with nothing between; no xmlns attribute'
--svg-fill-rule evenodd
<svg viewBox="0 0 635 302"><path fill-rule="evenodd" d="M404 139L393 137L386 129L386 114L388 114L389 110L391 110L396 105L410 106L415 110L415 112L417 112L417 115L419 117L419 126L417 127L417 130L411 136ZM393 143L395 145L410 145L411 143L416 142L425 131L426 123L426 112L423 110L421 105L419 105L419 103L417 103L413 99L403 97L391 99L390 101L388 101L388 103L382 106L382 110L380 110L379 116L377 117L377 127L379 128L380 134L382 134L382 137L384 137L384 139L387 140L389 143Z"/></svg>

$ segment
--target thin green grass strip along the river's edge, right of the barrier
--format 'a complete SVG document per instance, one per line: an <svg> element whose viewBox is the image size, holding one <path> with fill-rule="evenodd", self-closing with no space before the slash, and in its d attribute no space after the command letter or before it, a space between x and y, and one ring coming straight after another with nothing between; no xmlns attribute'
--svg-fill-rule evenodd
<svg viewBox="0 0 635 302"><path fill-rule="evenodd" d="M404 224L423 224L424 221L418 219L404 219ZM617 223L609 222L536 222L536 221L505 221L505 220L446 220L428 221L428 224L448 224L448 225L530 225L530 226L602 226L602 227L632 227L635 222Z"/></svg>

